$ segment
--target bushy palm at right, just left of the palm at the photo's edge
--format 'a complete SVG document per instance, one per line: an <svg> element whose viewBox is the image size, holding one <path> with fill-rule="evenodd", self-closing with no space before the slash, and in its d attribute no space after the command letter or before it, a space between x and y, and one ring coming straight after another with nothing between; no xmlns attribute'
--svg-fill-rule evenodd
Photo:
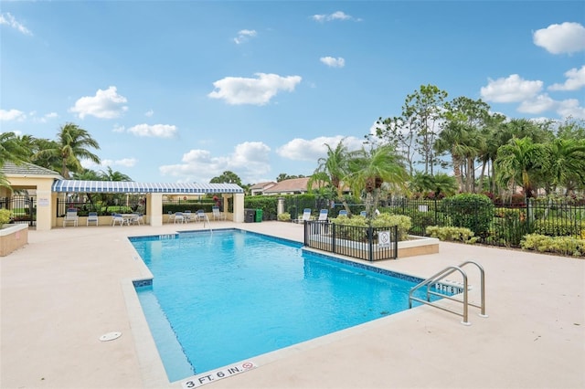
<svg viewBox="0 0 585 389"><path fill-rule="evenodd" d="M512 138L498 149L495 164L498 181L505 187L514 187L519 182L529 198L534 196L534 175L548 168L548 152L543 144L534 143L528 137Z"/></svg>

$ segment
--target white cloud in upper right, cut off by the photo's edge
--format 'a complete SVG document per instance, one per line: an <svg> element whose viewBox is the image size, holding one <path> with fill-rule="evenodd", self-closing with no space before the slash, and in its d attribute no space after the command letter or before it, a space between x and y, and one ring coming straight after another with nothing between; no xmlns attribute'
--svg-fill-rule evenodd
<svg viewBox="0 0 585 389"><path fill-rule="evenodd" d="M585 50L585 27L565 22L539 29L532 35L535 45L551 54L576 53Z"/></svg>

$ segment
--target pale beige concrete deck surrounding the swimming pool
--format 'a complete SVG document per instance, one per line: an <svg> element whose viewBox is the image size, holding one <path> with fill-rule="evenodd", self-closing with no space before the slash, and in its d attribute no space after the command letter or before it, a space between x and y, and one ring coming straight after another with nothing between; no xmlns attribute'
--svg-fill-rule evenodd
<svg viewBox="0 0 585 389"><path fill-rule="evenodd" d="M303 226L292 223L212 226L303 239ZM0 258L0 387L180 388L165 380L142 311L128 297L129 280L145 272L126 237L197 229L29 231L26 247ZM439 254L373 265L426 278L468 259L485 269L489 318L470 307L465 326L422 306L250 358L258 368L205 387L585 388L582 258L441 242ZM479 302L477 272L467 272L470 300ZM111 331L122 336L100 342Z"/></svg>

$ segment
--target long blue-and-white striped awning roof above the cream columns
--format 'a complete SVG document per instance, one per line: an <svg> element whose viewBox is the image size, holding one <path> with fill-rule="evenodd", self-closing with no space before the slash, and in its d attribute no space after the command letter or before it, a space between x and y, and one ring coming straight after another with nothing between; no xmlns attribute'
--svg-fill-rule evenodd
<svg viewBox="0 0 585 389"><path fill-rule="evenodd" d="M237 184L136 183L133 181L57 180L53 192L100 194L243 194Z"/></svg>

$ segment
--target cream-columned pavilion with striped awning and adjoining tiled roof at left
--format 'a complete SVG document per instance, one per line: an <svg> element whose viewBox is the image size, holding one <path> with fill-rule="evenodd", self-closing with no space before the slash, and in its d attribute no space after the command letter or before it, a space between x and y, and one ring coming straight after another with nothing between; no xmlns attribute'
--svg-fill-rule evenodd
<svg viewBox="0 0 585 389"><path fill-rule="evenodd" d="M244 190L237 184L64 180L58 173L32 163L16 165L5 162L2 171L13 188L37 191L37 230L49 230L57 226L58 196L74 193L145 195L144 216L146 223L151 226L163 225L163 195L218 194L223 197L224 201L221 204L224 207L228 204L227 197L233 196L233 221L239 223L244 221Z"/></svg>

